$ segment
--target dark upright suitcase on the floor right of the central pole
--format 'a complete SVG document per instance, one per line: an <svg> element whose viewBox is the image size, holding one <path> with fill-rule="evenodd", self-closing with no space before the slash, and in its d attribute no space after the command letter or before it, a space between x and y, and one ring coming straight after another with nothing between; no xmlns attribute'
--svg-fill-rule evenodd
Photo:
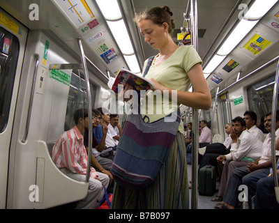
<svg viewBox="0 0 279 223"><path fill-rule="evenodd" d="M206 165L199 169L199 195L212 196L216 190L216 168Z"/></svg>

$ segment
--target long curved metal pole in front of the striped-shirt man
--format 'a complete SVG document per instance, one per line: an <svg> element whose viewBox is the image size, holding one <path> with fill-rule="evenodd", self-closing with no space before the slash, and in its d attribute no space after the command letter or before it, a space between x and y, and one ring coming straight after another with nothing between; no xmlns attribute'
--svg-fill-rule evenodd
<svg viewBox="0 0 279 223"><path fill-rule="evenodd" d="M87 170L86 170L86 183L89 182L90 171L91 171L91 155L92 155L92 137L93 137L93 128L92 128L92 102L91 102L91 90L89 84L89 73L86 65L86 57L84 55L84 50L82 47L82 40L77 38L77 44L80 47L80 58L82 59L82 66L85 74L86 82L86 92L87 92L87 101L88 101L88 121L89 121L89 130L88 130L88 160L87 160Z"/></svg>

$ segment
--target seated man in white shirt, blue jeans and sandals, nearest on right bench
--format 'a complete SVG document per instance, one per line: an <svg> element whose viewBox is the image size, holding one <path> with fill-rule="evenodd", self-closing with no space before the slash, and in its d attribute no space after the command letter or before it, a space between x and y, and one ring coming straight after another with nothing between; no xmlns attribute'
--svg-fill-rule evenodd
<svg viewBox="0 0 279 223"><path fill-rule="evenodd" d="M271 132L271 112L264 116L264 128ZM276 148L279 147L278 144L279 112L276 112ZM216 208L235 208L236 203L238 202L239 185L241 184L248 185L249 198L255 195L255 191L252 190L252 187L250 187L248 182L257 182L259 179L265 178L270 173L271 163L271 133L269 133L264 140L261 157L247 166L239 167L232 171L227 183L227 189L224 194L223 203L216 206ZM252 181L249 179L252 179Z"/></svg>

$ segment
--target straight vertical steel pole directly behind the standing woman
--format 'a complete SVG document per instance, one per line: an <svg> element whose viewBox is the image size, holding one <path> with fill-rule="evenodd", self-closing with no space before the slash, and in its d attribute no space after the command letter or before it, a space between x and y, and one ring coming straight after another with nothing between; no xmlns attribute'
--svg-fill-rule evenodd
<svg viewBox="0 0 279 223"><path fill-rule="evenodd" d="M198 49L197 37L197 0L190 0L190 19L191 19L191 42ZM194 90L194 89L193 89ZM191 209L197 209L197 166L199 155L199 120L198 111L193 109L193 147L192 147L192 194L191 194Z"/></svg>

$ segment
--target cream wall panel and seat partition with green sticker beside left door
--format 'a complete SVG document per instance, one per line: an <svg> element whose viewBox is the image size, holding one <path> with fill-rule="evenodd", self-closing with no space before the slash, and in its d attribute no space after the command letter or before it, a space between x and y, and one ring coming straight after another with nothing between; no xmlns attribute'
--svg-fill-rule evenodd
<svg viewBox="0 0 279 223"><path fill-rule="evenodd" d="M79 65L78 52L51 31L29 31L10 139L6 208L50 208L86 197L88 183L63 174L51 157L54 143L70 128L67 106L75 84L73 68L59 68L65 64Z"/></svg>

